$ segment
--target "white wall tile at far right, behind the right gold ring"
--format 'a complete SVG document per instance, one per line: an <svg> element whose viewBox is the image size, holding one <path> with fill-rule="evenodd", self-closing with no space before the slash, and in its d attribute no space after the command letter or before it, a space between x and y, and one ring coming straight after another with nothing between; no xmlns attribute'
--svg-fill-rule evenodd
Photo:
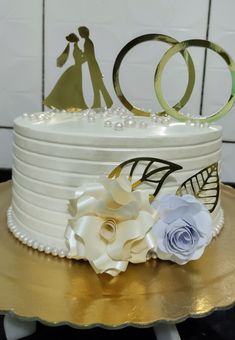
<svg viewBox="0 0 235 340"><path fill-rule="evenodd" d="M208 39L223 47L235 60L235 1L212 0ZM214 112L222 107L231 92L231 77L223 59L208 53L204 85L204 110ZM224 140L235 141L235 107L222 122ZM234 145L235 152L235 145ZM230 156L231 157L231 156ZM234 167L235 170L235 167ZM235 175L234 175L235 181Z"/></svg>

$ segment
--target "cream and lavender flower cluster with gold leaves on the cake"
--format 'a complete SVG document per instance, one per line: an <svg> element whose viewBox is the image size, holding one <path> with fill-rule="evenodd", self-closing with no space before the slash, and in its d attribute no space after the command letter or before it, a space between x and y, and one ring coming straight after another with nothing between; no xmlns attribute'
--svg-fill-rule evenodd
<svg viewBox="0 0 235 340"><path fill-rule="evenodd" d="M139 163L147 164L142 177L132 183ZM156 163L161 166L153 168ZM129 165L130 175L122 175ZM69 256L88 260L96 273L112 276L125 271L129 262L154 258L183 265L199 259L212 239L210 212L219 196L217 168L213 164L195 174L176 195L157 193L166 177L181 166L147 157L128 160L108 177L79 187L68 206ZM137 189L144 182L157 185L153 195Z"/></svg>

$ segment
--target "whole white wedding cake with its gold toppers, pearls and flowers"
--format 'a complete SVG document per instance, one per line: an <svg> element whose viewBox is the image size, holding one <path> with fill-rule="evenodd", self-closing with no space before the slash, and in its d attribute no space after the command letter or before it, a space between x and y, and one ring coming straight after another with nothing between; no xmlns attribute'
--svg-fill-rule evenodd
<svg viewBox="0 0 235 340"><path fill-rule="evenodd" d="M123 108L105 87L87 27L71 33L57 58L67 68L44 104L47 112L23 114L14 122L13 189L8 226L24 244L61 258L86 260L96 273L116 276L128 263L150 259L179 265L199 259L223 226L220 206L222 128L211 125L233 105L210 116L185 115L181 108L193 90L195 68L186 48L209 48L235 64L218 45L206 40L178 42L145 34L120 51L113 67L114 89ZM156 96L164 111L150 114L133 106L119 82L119 68L139 43L173 45L154 75ZM182 99L171 107L161 87L164 67L180 52L189 78ZM87 109L82 62L88 63L93 106ZM101 97L108 108L99 108Z"/></svg>

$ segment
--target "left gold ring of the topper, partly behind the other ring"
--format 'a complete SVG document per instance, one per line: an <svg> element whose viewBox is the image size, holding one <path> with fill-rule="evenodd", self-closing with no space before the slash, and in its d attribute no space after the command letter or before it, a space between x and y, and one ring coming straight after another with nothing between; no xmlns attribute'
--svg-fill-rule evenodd
<svg viewBox="0 0 235 340"><path fill-rule="evenodd" d="M113 85L114 85L114 90L116 92L116 95L118 96L119 100L121 101L121 103L132 113L134 113L137 116L150 116L150 112L148 111L144 111L141 110L137 107L135 107L133 104L131 104L127 98L124 96L122 90L121 90L121 86L120 86L120 81L119 81L119 70L120 70L120 66L121 63L124 59L124 57L126 56L126 54L136 45L141 44L143 42L146 41L161 41L164 43L168 43L171 45L176 45L178 46L179 41L177 41L176 39L167 36L167 35L163 35L163 34L156 34L156 33L151 33L151 34L145 34L145 35L141 35L133 40L131 40L129 43L127 43L119 52L114 66L113 66ZM187 64L188 67L188 85L186 88L186 91L182 97L182 99L174 106L174 108L176 108L177 110L181 109L189 100L191 93L193 91L193 86L194 86L194 82L195 82L195 69L194 69L194 64L192 61L192 58L190 57L189 53L184 50L181 52L182 56L185 59L185 62ZM163 115L165 114L165 111L162 112L158 112L158 115Z"/></svg>

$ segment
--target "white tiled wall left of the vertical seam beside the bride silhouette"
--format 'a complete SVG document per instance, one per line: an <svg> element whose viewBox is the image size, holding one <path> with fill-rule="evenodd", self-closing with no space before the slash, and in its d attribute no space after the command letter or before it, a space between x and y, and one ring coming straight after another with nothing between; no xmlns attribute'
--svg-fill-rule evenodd
<svg viewBox="0 0 235 340"><path fill-rule="evenodd" d="M10 168L13 119L41 108L41 0L0 0L0 50L0 168Z"/></svg>

